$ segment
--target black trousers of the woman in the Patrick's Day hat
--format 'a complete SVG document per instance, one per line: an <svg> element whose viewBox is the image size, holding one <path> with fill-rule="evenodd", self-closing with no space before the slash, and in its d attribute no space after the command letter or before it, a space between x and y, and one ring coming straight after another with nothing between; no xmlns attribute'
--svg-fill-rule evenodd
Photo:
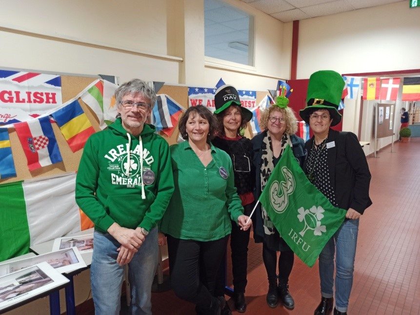
<svg viewBox="0 0 420 315"><path fill-rule="evenodd" d="M249 215L254 207L254 203L245 205L244 214ZM232 258L232 275L233 275L233 289L235 293L245 293L247 284L246 273L248 266L248 244L249 234L251 229L242 231L240 226L231 221L232 232L230 235L230 248ZM215 296L224 295L224 286L226 281L226 259L222 259L217 283L215 288Z"/></svg>

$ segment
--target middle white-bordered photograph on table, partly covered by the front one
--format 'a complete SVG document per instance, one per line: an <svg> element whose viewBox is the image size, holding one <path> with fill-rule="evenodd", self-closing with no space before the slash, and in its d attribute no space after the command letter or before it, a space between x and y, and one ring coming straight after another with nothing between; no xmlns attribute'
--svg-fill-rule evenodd
<svg viewBox="0 0 420 315"><path fill-rule="evenodd" d="M44 261L48 262L48 264L60 274L69 273L86 267L77 247L70 247L56 252L0 264L0 276L8 275L12 272Z"/></svg>

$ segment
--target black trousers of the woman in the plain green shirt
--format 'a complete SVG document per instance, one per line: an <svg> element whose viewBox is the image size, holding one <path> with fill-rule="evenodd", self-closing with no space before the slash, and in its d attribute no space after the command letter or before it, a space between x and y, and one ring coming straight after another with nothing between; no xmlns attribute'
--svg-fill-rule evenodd
<svg viewBox="0 0 420 315"><path fill-rule="evenodd" d="M167 236L171 286L176 296L198 308L210 307L228 238L193 241Z"/></svg>

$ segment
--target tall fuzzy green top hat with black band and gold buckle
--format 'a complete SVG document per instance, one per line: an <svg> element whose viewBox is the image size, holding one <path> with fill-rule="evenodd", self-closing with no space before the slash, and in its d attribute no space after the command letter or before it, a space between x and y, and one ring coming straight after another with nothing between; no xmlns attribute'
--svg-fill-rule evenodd
<svg viewBox="0 0 420 315"><path fill-rule="evenodd" d="M321 70L311 74L306 95L307 106L299 111L300 117L309 124L309 114L313 109L325 109L330 112L333 119L331 126L340 123L341 115L338 108L343 88L344 80L335 71Z"/></svg>

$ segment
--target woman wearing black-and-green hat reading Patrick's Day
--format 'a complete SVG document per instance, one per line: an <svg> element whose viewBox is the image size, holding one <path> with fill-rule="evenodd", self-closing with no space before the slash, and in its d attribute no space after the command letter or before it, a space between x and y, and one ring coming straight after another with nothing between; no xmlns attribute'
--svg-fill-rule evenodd
<svg viewBox="0 0 420 315"><path fill-rule="evenodd" d="M243 213L249 216L255 204L252 193L255 184L255 168L252 164L251 140L242 136L240 132L251 120L252 112L241 106L238 91L230 85L223 85L216 91L215 107L214 113L219 121L219 127L212 143L216 148L229 154L232 159L235 187L244 208ZM245 287L250 230L244 232L236 222L231 223L233 299L235 309L243 313L246 311ZM225 266L226 262L222 261L215 290L216 296L224 295ZM222 314L229 314L229 311L225 310Z"/></svg>

